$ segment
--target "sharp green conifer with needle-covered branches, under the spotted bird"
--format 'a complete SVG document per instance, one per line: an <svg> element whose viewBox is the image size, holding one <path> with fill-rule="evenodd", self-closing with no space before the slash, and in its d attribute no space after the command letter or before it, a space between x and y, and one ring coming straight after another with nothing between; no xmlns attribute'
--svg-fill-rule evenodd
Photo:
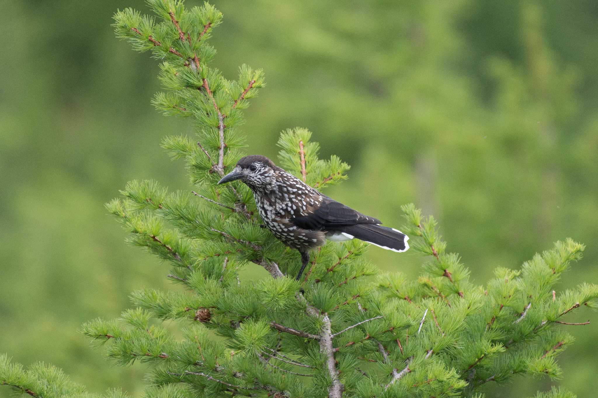
<svg viewBox="0 0 598 398"><path fill-rule="evenodd" d="M425 258L417 280L380 273L364 257L367 244L329 242L301 261L261 227L251 191L218 180L243 155L236 127L264 87L264 74L241 66L236 81L209 66L207 43L222 14L212 5L148 0L157 18L126 9L117 36L163 60L165 92L153 103L167 116L192 118L197 138L171 136L163 147L184 159L193 190L169 192L156 181L132 181L106 204L129 232L128 242L170 267L171 291L133 292L119 319L81 327L105 345L117 365L148 364L148 397L481 397L487 385L514 375L558 379L557 355L573 341L566 317L598 307L598 286L554 286L584 246L567 239L536 254L520 270L499 268L485 286L447 251L433 217L402 206L411 251ZM318 157L303 128L283 131L279 165L322 190L349 166ZM257 137L254 137L257 138ZM243 267L263 267L259 280ZM171 326L164 322L177 320ZM173 331L173 326L181 326ZM87 396L58 369L23 369L0 357L0 383L35 397ZM499 387L496 387L499 388ZM106 396L124 397L121 391ZM553 388L536 397L572 397Z"/></svg>

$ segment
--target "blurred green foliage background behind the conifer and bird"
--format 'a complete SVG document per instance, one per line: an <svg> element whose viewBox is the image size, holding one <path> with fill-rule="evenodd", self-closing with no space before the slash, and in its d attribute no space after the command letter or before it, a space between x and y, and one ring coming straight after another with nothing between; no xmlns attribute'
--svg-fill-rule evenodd
<svg viewBox="0 0 598 398"><path fill-rule="evenodd" d="M198 1L189 1L195 5ZM598 2L215 0L215 64L228 78L266 70L251 101L248 153L276 158L282 129L313 131L322 156L353 168L327 191L390 226L414 202L441 224L449 250L485 283L553 241L587 244L560 288L598 280ZM117 8L142 0L11 1L0 26L0 352L65 369L91 391L142 393L143 365L116 368L76 329L129 307L131 291L169 288L167 269L106 215L133 178L190 189L159 147L193 134L190 119L149 104L157 62L112 32ZM373 248L385 270L421 258ZM595 396L597 317L563 326L564 385ZM568 318L569 319L569 318ZM490 384L527 396L549 380ZM0 389L0 397L8 389Z"/></svg>

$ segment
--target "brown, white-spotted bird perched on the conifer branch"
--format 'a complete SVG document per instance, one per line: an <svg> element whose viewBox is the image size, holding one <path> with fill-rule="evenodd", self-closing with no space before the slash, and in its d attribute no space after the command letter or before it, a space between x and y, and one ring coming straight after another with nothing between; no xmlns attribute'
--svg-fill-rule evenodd
<svg viewBox="0 0 598 398"><path fill-rule="evenodd" d="M382 221L328 198L266 156L239 159L218 184L234 180L252 190L260 216L274 236L301 253L297 280L309 263L309 249L324 245L325 239L343 242L357 238L395 252L409 248L409 237L401 231L383 227Z"/></svg>

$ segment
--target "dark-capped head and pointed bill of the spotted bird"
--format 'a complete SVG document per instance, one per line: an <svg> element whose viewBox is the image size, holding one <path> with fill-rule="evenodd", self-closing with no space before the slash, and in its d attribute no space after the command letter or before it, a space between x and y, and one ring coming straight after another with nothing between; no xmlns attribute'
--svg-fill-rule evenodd
<svg viewBox="0 0 598 398"><path fill-rule="evenodd" d="M277 169L276 165L266 156L245 156L245 158L239 159L233 171L222 177L218 184L241 180L251 189L266 190L276 181Z"/></svg>

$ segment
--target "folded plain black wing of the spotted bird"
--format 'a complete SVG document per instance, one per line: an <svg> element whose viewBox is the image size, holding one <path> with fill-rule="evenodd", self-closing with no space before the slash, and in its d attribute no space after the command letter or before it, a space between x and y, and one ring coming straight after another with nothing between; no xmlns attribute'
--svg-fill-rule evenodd
<svg viewBox="0 0 598 398"><path fill-rule="evenodd" d="M291 218L290 221L297 227L313 230L334 230L355 224L381 224L380 220L329 198L322 200L321 205L312 209L310 214Z"/></svg>

